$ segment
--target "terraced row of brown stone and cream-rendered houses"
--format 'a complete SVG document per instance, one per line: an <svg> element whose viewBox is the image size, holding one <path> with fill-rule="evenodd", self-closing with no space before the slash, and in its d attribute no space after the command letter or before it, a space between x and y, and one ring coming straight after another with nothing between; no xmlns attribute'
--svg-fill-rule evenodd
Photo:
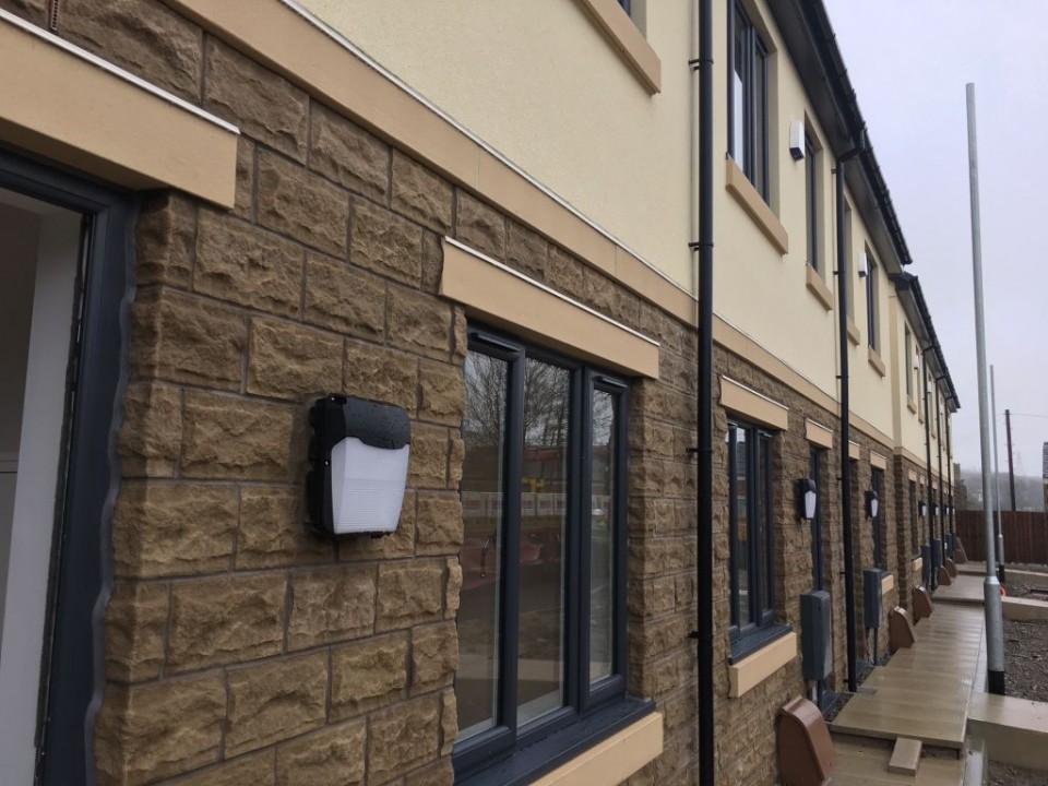
<svg viewBox="0 0 1048 786"><path fill-rule="evenodd" d="M0 0L0 66L5 784L771 784L934 581L820 2Z"/></svg>

